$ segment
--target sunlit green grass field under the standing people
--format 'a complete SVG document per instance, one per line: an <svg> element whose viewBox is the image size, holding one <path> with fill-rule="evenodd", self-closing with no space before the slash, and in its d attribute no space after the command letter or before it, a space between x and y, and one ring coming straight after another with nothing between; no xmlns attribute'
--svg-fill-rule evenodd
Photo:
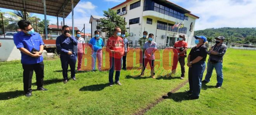
<svg viewBox="0 0 256 115"><path fill-rule="evenodd" d="M45 85L36 91L33 76L32 96L23 93L20 61L0 62L1 115L130 115L137 113L187 80L176 77L131 77L121 71L123 86L108 86L108 72L77 72L78 81L62 83L61 62L45 60ZM224 82L214 88L216 74L202 86L198 100L187 100L184 87L160 101L146 115L227 115L256 114L256 51L228 49L223 62ZM68 73L70 76L70 72ZM204 76L206 71L204 73Z"/></svg>

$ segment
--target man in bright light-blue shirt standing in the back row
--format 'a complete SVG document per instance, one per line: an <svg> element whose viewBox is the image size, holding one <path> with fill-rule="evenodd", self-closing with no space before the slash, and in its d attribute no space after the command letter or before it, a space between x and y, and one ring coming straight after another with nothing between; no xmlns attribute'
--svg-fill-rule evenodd
<svg viewBox="0 0 256 115"><path fill-rule="evenodd" d="M92 44L93 46L93 60L92 60L92 68L93 71L95 71L95 65L96 65L96 57L98 58L98 69L101 70L101 65L102 65L102 47L104 46L104 41L102 40L102 38L100 38L100 32L99 31L95 31L94 32L95 37L93 37L92 39L90 39L89 43Z"/></svg>

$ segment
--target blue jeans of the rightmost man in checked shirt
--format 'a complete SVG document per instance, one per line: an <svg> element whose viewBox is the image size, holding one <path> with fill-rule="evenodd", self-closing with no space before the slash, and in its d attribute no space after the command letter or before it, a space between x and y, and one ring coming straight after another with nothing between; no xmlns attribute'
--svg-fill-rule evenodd
<svg viewBox="0 0 256 115"><path fill-rule="evenodd" d="M211 74L213 74L213 68L216 70L217 74L217 86L221 86L223 82L223 74L222 74L222 62L218 62L216 64L211 63L208 61L207 63L207 74L205 76L205 81L210 81Z"/></svg>

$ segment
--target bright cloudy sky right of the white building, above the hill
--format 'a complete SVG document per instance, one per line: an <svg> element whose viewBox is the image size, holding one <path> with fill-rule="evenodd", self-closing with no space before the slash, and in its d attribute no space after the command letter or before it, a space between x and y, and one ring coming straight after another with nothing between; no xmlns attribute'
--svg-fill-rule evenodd
<svg viewBox="0 0 256 115"><path fill-rule="evenodd" d="M256 0L184 0L176 3L200 17L195 22L195 30L256 27Z"/></svg>

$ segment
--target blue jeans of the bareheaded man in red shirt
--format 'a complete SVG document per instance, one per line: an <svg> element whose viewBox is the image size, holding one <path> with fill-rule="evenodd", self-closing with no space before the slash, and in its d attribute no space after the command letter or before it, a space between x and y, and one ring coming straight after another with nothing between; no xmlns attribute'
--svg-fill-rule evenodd
<svg viewBox="0 0 256 115"><path fill-rule="evenodd" d="M116 69L115 82L119 82L120 70L121 70L121 58L110 58L111 69L109 70L109 83L113 84L114 70Z"/></svg>

